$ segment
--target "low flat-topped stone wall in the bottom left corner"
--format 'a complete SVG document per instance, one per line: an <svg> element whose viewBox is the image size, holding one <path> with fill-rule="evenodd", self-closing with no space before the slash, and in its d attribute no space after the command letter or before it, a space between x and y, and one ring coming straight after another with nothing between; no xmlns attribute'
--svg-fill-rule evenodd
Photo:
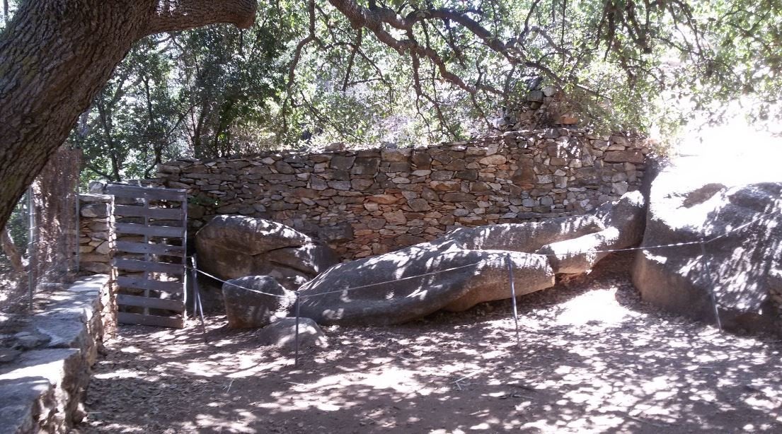
<svg viewBox="0 0 782 434"><path fill-rule="evenodd" d="M0 315L0 432L72 432L102 343L116 324L108 275L52 292L33 315Z"/></svg>

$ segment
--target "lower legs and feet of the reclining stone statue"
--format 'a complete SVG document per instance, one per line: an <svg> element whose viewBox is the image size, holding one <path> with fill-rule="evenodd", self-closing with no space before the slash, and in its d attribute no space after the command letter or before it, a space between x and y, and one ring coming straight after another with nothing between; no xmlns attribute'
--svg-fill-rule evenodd
<svg viewBox="0 0 782 434"><path fill-rule="evenodd" d="M601 206L597 215L605 229L555 243L536 253L545 254L557 274L589 272L610 251L631 247L644 236L644 195L640 191L624 194L619 201Z"/></svg>

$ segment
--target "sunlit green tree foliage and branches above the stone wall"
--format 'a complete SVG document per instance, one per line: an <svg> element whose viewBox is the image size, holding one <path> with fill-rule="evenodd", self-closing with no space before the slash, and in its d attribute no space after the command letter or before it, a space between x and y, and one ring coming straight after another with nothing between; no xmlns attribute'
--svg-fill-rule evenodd
<svg viewBox="0 0 782 434"><path fill-rule="evenodd" d="M91 176L149 176L176 155L462 139L534 85L589 126L641 132L744 94L772 116L782 87L775 0L276 0L246 30L186 27L135 44L79 119L70 141Z"/></svg>

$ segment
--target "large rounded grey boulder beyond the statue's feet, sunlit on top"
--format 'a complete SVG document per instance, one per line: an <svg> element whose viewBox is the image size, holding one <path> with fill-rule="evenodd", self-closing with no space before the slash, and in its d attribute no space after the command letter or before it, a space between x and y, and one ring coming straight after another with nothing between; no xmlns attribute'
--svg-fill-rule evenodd
<svg viewBox="0 0 782 434"><path fill-rule="evenodd" d="M705 172L705 169L708 169ZM744 172L749 179L736 179ZM724 325L773 328L780 304L775 270L782 258L782 176L730 160L684 158L651 184L644 242L633 283L644 301L713 322L713 290ZM773 181L773 179L772 179Z"/></svg>

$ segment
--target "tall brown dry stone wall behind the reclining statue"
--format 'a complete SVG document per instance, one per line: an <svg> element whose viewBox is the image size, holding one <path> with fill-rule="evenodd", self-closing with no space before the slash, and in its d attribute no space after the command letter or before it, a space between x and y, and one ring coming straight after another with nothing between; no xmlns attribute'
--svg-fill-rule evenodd
<svg viewBox="0 0 782 434"><path fill-rule="evenodd" d="M261 217L363 258L454 226L588 212L640 186L644 143L565 127L511 131L429 148L181 159L159 165L157 183L188 189L193 229L217 214Z"/></svg>

